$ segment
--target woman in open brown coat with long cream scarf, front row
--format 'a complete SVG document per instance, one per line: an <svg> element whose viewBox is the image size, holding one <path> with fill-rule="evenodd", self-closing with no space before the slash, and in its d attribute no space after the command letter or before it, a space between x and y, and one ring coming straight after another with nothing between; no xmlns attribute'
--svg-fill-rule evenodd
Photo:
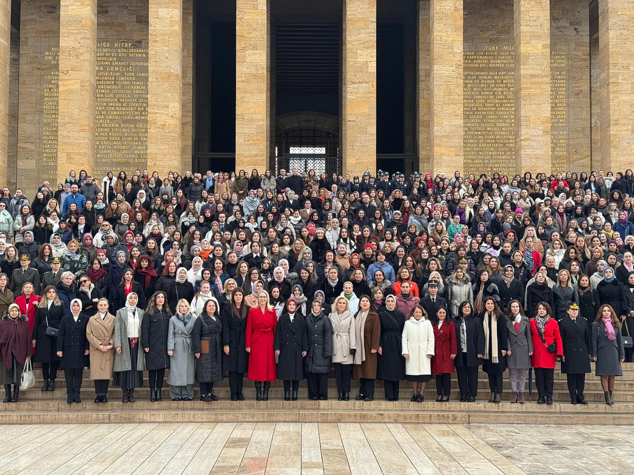
<svg viewBox="0 0 634 475"><path fill-rule="evenodd" d="M381 341L381 323L378 314L370 307L370 297L361 296L359 310L354 315L357 340L363 341L354 354L354 379L361 379L358 401L374 400L374 380L377 379L377 352Z"/></svg>

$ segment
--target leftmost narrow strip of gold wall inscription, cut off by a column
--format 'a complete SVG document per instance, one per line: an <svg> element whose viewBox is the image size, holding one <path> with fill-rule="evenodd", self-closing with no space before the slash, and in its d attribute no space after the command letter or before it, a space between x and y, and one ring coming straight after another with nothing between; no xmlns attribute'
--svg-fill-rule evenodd
<svg viewBox="0 0 634 475"><path fill-rule="evenodd" d="M57 120L60 92L60 48L44 52L44 63L50 70L44 72L44 124L42 134L42 180L57 181ZM55 186L55 185L54 185Z"/></svg>

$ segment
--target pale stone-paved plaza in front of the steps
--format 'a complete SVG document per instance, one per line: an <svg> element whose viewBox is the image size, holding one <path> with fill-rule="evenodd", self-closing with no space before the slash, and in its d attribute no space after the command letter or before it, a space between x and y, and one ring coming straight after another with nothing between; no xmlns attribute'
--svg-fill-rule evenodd
<svg viewBox="0 0 634 475"><path fill-rule="evenodd" d="M631 426L0 426L0 474L627 474Z"/></svg>

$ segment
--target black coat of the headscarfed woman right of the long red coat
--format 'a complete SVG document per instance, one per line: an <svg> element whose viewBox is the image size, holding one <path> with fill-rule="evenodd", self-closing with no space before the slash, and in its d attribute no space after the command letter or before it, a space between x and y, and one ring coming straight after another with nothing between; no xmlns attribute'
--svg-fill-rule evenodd
<svg viewBox="0 0 634 475"><path fill-rule="evenodd" d="M281 315L275 329L273 350L280 350L278 379L292 381L304 379L302 352L308 351L308 338L306 336L306 320L302 315L295 313L292 322L288 312Z"/></svg>

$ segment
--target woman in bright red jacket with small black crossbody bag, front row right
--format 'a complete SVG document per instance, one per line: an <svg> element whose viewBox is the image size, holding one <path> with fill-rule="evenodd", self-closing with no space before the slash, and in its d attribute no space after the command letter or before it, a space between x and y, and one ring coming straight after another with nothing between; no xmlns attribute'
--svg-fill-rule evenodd
<svg viewBox="0 0 634 475"><path fill-rule="evenodd" d="M531 319L531 339L534 353L531 362L535 369L535 385L538 392L538 404L553 403L553 384L555 377L555 362L561 359L564 348L559 334L557 320L550 317L552 310L546 302L537 304L537 314ZM543 340L542 340L543 339ZM548 345L555 343L557 351L548 352Z"/></svg>

